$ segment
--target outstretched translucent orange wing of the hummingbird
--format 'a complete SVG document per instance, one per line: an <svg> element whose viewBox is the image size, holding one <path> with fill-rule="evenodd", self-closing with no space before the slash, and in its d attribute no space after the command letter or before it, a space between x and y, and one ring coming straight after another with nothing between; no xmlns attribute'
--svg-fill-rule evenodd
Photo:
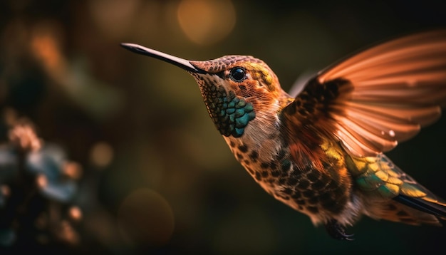
<svg viewBox="0 0 446 255"><path fill-rule="evenodd" d="M375 156L440 118L446 106L446 31L383 43L318 73L286 113Z"/></svg>

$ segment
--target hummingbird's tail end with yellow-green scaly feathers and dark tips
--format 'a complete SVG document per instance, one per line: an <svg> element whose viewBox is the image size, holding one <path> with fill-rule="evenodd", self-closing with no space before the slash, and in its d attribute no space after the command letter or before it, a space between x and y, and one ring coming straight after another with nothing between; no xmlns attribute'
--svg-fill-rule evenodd
<svg viewBox="0 0 446 255"><path fill-rule="evenodd" d="M385 155L351 157L351 160L353 164L349 170L356 174L356 184L366 196L366 215L413 225L441 226L440 220L446 220L446 202L400 170ZM361 168L355 169L356 166Z"/></svg>

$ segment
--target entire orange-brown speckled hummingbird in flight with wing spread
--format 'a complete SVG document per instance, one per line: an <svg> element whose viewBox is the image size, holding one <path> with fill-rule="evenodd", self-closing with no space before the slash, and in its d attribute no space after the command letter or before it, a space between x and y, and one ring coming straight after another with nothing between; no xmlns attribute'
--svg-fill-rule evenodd
<svg viewBox="0 0 446 255"><path fill-rule="evenodd" d="M133 44L190 73L210 118L271 196L334 239L362 215L441 226L446 202L383 153L434 123L446 105L446 30L396 38L318 72L296 96L264 61L189 61Z"/></svg>

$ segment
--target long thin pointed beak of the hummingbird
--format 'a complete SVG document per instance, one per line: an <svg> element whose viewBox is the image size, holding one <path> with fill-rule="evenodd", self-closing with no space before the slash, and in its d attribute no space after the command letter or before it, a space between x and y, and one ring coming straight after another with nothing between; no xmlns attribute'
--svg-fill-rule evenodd
<svg viewBox="0 0 446 255"><path fill-rule="evenodd" d="M160 51L155 51L151 48L145 48L144 46L140 46L134 43L121 43L121 46L123 46L123 48L128 49L129 51L133 51L134 53L150 56L152 58L158 58L167 63L171 63L175 66L185 69L188 72L204 73L203 70L195 68L195 66L192 66L192 64L184 58L178 58L166 53L162 53Z"/></svg>

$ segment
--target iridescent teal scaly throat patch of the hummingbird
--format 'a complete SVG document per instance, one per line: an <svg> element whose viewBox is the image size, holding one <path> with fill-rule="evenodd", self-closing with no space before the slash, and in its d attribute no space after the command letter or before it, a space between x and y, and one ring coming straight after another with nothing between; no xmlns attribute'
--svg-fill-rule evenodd
<svg viewBox="0 0 446 255"><path fill-rule="evenodd" d="M251 103L237 97L234 91L225 90L216 80L208 80L194 75L202 91L207 111L217 130L224 136L241 137L249 121L254 120L256 113Z"/></svg>

